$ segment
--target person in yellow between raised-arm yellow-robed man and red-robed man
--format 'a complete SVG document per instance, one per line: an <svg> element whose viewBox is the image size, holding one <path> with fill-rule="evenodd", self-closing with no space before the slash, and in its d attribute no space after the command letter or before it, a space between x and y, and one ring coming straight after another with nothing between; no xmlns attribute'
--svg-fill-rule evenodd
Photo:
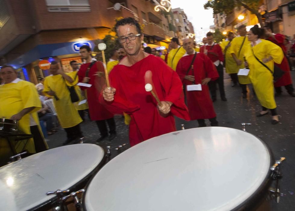
<svg viewBox="0 0 295 211"><path fill-rule="evenodd" d="M89 107L88 107L88 103L86 101L86 97L85 97L84 92L80 89L80 87L78 85L76 85L79 82L79 77L77 75L77 73L79 71L79 65L78 65L77 61L75 61L75 60L71 61L70 65L71 65L73 71L69 72L68 74L74 79L74 84L75 84L74 88L75 88L75 91L79 97L79 101L74 102L74 105L76 106L81 119L84 121L84 111L87 111L87 109L89 109ZM83 103L80 104L81 102L83 102Z"/></svg>

